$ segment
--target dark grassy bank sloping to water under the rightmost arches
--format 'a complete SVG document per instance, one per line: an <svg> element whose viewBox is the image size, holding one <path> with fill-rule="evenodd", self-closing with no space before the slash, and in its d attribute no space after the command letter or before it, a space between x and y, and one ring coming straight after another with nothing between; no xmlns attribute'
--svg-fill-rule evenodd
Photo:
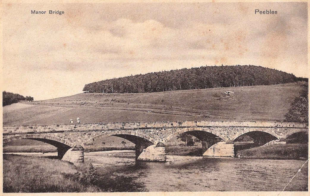
<svg viewBox="0 0 310 196"><path fill-rule="evenodd" d="M238 150L237 156L308 158L308 144L271 144L256 148Z"/></svg>

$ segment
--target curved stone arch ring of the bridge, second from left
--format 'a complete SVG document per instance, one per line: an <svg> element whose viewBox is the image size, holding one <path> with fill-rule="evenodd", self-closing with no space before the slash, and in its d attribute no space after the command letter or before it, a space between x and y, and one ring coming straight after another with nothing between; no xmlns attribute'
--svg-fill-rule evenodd
<svg viewBox="0 0 310 196"><path fill-rule="evenodd" d="M111 132L106 132L106 133L102 133L98 136L95 136L95 137L87 140L86 142L84 142L81 145L82 145L82 147L85 148L85 146L87 144L90 144L92 141L98 140L99 138L103 138L103 137L107 137L107 136L121 137L121 138L124 138L126 140L131 141L134 144L142 142L142 143L148 143L150 145L153 145L156 143L153 138L145 136L144 134L141 134L141 133L136 132L136 131L111 131Z"/></svg>

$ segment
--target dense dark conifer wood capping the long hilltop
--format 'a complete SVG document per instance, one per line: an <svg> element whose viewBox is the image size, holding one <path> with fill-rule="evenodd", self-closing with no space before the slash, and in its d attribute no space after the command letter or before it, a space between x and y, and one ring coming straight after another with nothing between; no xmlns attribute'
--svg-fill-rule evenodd
<svg viewBox="0 0 310 196"><path fill-rule="evenodd" d="M202 66L113 78L86 84L90 93L146 93L294 82L293 74L254 65Z"/></svg>

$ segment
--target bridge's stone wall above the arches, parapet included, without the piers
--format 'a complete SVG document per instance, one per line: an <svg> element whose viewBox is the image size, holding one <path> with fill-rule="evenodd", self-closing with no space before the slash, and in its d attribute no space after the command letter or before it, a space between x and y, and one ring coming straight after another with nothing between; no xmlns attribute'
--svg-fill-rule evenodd
<svg viewBox="0 0 310 196"><path fill-rule="evenodd" d="M305 123L286 122L239 122L239 121L154 121L126 123L82 123L49 124L27 126L3 126L3 139L24 135L39 134L59 138L74 145L82 145L101 134L129 134L143 137L154 144L166 143L178 133L186 131L207 131L231 141L250 131L264 131L278 139L292 133L308 131Z"/></svg>

